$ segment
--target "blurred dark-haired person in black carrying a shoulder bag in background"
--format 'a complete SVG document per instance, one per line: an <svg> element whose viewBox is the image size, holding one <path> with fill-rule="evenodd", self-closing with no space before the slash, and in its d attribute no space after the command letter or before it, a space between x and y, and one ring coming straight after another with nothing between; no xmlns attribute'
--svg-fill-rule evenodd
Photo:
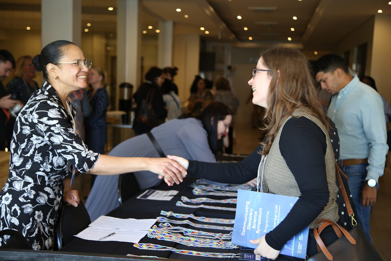
<svg viewBox="0 0 391 261"><path fill-rule="evenodd" d="M145 74L145 80L147 82L142 83L133 95L137 104L136 120L133 124L136 135L149 132L153 127L164 123L167 117L167 108L161 91L161 85L164 82L163 70L151 67ZM151 113L147 114L147 110Z"/></svg>

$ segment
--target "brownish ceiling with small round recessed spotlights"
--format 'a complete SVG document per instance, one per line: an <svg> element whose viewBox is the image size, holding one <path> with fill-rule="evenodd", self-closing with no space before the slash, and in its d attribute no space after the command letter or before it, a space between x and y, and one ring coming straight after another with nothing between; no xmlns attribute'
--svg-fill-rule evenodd
<svg viewBox="0 0 391 261"><path fill-rule="evenodd" d="M391 14L386 0L142 0L142 29L154 34L159 19L174 21L175 34L200 34L206 40L247 47L290 44L328 50L355 28L377 14ZM0 28L40 30L40 0L0 0ZM108 11L110 5L114 11ZM83 28L114 33L115 0L82 0ZM250 8L249 8L250 7ZM269 12L255 12L266 7ZM182 11L177 12L180 8ZM187 14L188 18L184 15ZM237 15L242 16L238 20ZM292 16L297 16L293 20ZM269 25L262 23L271 22ZM148 25L154 27L147 29ZM204 27L205 34L200 30ZM244 31L243 27L248 27ZM295 30L291 31L291 27ZM253 40L249 40L249 36ZM292 41L287 38L291 37Z"/></svg>

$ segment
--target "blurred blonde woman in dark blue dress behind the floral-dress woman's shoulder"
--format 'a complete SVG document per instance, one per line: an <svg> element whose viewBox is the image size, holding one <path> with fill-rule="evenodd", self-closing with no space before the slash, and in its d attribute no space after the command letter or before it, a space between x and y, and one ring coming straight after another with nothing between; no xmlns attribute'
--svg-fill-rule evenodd
<svg viewBox="0 0 391 261"><path fill-rule="evenodd" d="M109 96L106 91L105 72L99 67L91 67L88 82L91 89L87 92L91 104L91 114L86 118L86 145L94 152L104 154L107 140L106 112ZM91 187L96 175L91 175Z"/></svg>

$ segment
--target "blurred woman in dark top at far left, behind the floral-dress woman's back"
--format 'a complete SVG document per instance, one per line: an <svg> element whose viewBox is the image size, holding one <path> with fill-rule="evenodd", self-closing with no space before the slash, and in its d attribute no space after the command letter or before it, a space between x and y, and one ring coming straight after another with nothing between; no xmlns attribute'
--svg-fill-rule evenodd
<svg viewBox="0 0 391 261"><path fill-rule="evenodd" d="M11 94L13 100L19 100L24 106L31 95L39 89L38 83L33 79L36 77L32 57L23 55L16 60L15 70L12 72L13 79L5 85L5 93ZM22 108L20 108L22 109ZM12 131L16 118L10 116L7 122L7 147L11 144Z"/></svg>

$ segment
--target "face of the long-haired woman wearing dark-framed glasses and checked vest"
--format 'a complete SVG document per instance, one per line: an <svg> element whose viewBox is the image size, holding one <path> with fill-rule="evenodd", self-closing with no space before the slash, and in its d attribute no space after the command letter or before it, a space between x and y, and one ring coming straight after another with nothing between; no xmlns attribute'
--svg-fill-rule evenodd
<svg viewBox="0 0 391 261"><path fill-rule="evenodd" d="M269 70L264 65L264 59L261 57L256 64L256 69ZM248 81L253 90L253 103L267 108L267 96L272 76L267 71L256 71L255 76Z"/></svg>

